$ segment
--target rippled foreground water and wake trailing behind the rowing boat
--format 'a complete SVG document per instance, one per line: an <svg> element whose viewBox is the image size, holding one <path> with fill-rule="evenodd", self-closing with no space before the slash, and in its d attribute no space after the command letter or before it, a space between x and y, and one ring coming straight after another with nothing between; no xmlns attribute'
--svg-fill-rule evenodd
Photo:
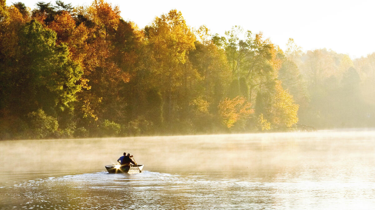
<svg viewBox="0 0 375 210"><path fill-rule="evenodd" d="M37 209L248 209L373 205L374 182L220 179L204 174L144 171L135 175L85 173L5 187L10 203ZM4 200L1 200L3 203ZM322 202L324 201L324 202ZM3 203L4 204L4 203ZM11 205L10 205L11 204ZM339 205L339 206L338 206ZM4 206L3 206L4 207ZM5 209L6 209L5 208Z"/></svg>

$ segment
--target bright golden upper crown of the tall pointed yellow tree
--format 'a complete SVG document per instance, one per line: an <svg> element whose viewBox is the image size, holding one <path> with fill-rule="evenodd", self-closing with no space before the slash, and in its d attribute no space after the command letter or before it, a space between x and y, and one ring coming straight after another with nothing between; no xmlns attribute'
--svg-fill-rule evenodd
<svg viewBox="0 0 375 210"><path fill-rule="evenodd" d="M153 49L151 71L163 86L178 86L182 83L181 64L187 61L187 53L194 49L195 35L186 25L181 12L171 10L167 15L156 17L150 27L145 28L148 46ZM167 76L169 79L165 80ZM167 83L167 84L165 84Z"/></svg>

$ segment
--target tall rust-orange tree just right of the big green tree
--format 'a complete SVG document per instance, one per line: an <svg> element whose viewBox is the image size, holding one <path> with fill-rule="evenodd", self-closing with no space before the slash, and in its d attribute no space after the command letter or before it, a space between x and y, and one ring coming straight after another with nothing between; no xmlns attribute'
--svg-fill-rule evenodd
<svg viewBox="0 0 375 210"><path fill-rule="evenodd" d="M81 21L75 30L87 31L82 37L86 38L85 42L75 49L77 59L81 60L84 68L81 81L86 84L78 95L79 124L96 129L104 120L117 123L125 113L125 96L121 94L121 87L129 81L130 75L119 67L116 55L118 50L114 45L120 10L101 0L94 1L89 7L77 8L74 12L77 14L75 20ZM79 39L79 33L71 33L77 37L73 37L73 43L74 40L82 40Z"/></svg>

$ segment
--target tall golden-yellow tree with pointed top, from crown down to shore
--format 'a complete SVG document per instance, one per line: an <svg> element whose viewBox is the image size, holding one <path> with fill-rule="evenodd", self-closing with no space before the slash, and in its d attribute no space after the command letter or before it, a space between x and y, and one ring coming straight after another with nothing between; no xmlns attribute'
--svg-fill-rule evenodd
<svg viewBox="0 0 375 210"><path fill-rule="evenodd" d="M171 10L168 14L156 17L145 28L145 38L150 66L148 80L160 90L163 96L163 118L168 126L176 118L178 109L189 106L189 86L199 76L187 59L189 50L194 49L195 35L186 25L181 12Z"/></svg>

